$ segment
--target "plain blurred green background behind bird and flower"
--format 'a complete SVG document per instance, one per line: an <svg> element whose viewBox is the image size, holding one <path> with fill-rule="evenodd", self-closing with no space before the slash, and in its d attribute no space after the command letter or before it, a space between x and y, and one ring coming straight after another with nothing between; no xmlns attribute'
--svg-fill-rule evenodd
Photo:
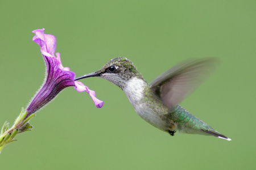
<svg viewBox="0 0 256 170"><path fill-rule="evenodd" d="M255 169L255 1L2 1L0 125L13 124L41 86L34 29L57 38L77 76L127 57L151 82L189 58L221 66L181 105L232 139L174 137L147 124L120 88L81 82L104 100L65 89L0 155L0 169Z"/></svg>

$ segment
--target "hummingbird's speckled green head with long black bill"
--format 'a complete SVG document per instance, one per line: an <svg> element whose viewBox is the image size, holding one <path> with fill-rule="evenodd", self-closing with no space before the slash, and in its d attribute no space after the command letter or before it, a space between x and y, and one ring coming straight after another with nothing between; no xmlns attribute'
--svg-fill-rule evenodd
<svg viewBox="0 0 256 170"><path fill-rule="evenodd" d="M122 89L131 78L137 77L143 79L141 73L139 73L137 68L133 65L133 62L124 57L110 59L110 61L107 62L100 70L90 74L85 74L75 80L91 76L98 76L109 80L109 82L114 83Z"/></svg>

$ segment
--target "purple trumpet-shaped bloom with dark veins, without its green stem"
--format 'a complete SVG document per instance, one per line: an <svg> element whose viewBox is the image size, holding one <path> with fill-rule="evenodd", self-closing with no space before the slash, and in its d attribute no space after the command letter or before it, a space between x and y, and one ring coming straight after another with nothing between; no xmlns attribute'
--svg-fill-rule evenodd
<svg viewBox="0 0 256 170"><path fill-rule="evenodd" d="M60 61L60 53L55 53L56 37L49 34L44 34L43 29L36 29L32 31L35 33L33 41L35 41L41 48L44 61L46 61L46 79L42 87L36 93L31 103L27 107L27 116L38 111L38 109L44 107L49 101L51 101L61 90L69 86L75 86L75 89L79 92L86 91L92 97L95 105L101 108L103 101L98 100L95 96L95 92L89 90L81 82L75 82L76 74L69 71L69 67L63 67Z"/></svg>

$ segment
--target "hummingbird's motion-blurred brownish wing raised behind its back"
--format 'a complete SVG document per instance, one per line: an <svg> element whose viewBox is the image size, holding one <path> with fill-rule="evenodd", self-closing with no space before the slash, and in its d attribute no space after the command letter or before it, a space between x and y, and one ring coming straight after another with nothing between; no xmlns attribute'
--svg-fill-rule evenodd
<svg viewBox="0 0 256 170"><path fill-rule="evenodd" d="M209 77L218 65L216 58L193 59L180 63L161 74L151 83L169 108L179 104Z"/></svg>

